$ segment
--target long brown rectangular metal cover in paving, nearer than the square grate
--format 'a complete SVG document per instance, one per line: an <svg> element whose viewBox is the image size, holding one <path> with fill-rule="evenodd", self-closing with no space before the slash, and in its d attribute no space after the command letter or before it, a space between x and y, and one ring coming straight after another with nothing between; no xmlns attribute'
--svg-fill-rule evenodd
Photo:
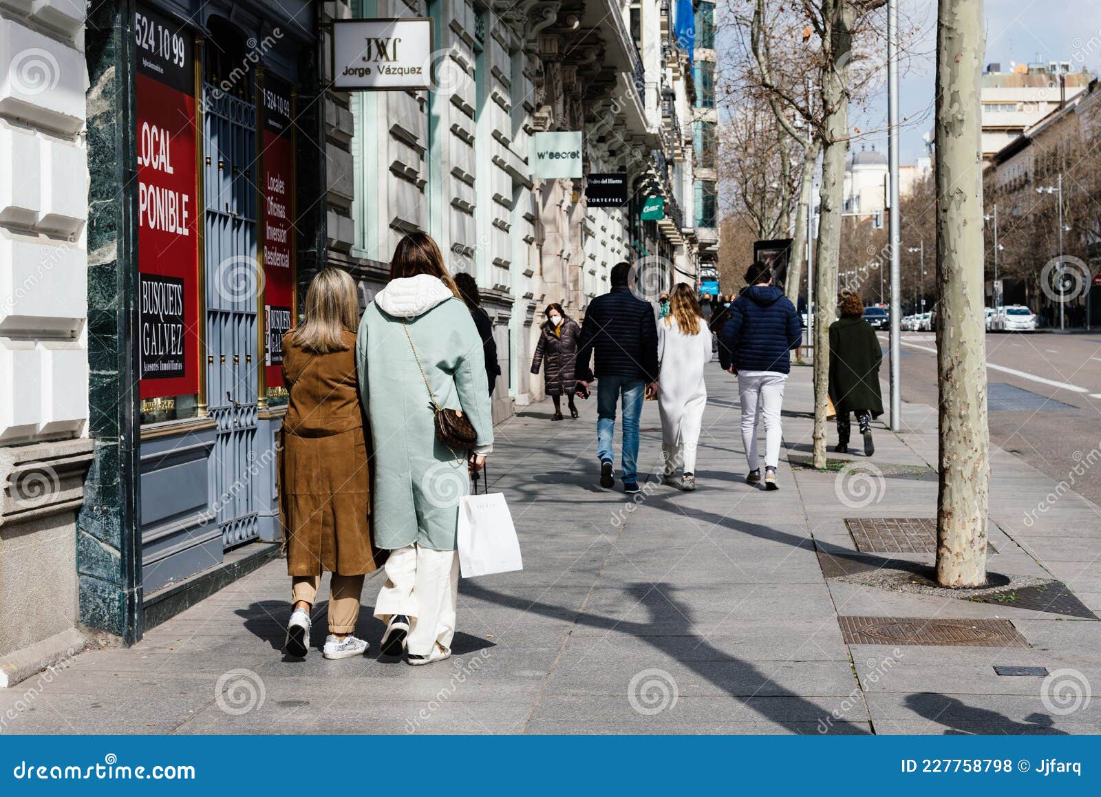
<svg viewBox="0 0 1101 797"><path fill-rule="evenodd" d="M839 616L838 622L851 645L1028 646L1009 620Z"/></svg>

